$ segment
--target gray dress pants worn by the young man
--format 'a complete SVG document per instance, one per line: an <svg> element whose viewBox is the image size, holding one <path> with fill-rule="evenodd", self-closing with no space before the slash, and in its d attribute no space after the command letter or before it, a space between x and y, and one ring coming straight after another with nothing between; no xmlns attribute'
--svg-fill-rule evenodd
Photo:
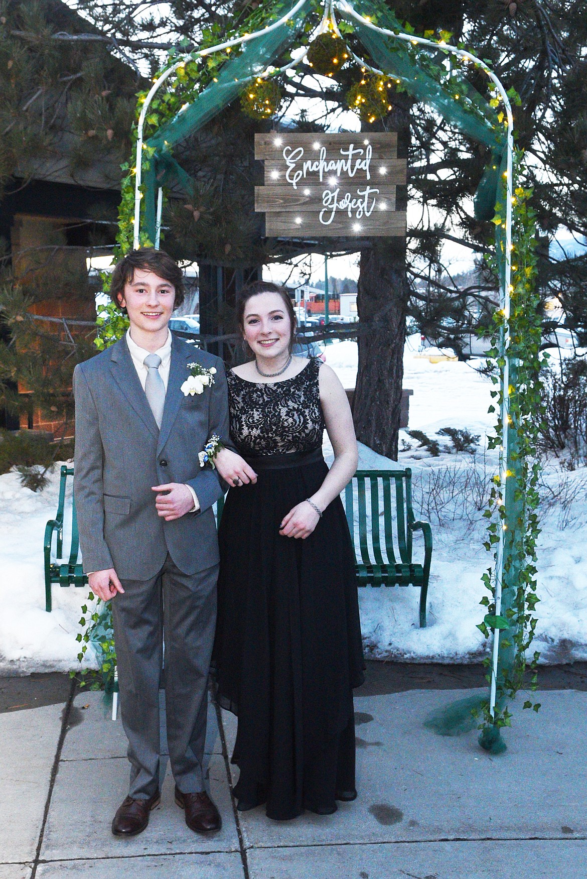
<svg viewBox="0 0 587 879"><path fill-rule="evenodd" d="M167 556L150 580L121 580L112 599L120 715L131 764L129 795L159 787L159 686L165 643L170 766L184 794L204 790L207 684L216 625L218 565L183 574Z"/></svg>

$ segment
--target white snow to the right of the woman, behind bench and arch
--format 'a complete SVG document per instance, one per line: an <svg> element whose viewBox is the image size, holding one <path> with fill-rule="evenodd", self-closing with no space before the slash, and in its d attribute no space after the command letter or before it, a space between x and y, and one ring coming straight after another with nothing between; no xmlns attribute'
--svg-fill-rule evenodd
<svg viewBox="0 0 587 879"><path fill-rule="evenodd" d="M467 363L441 360L431 363L418 351L419 336L407 340L403 387L409 398L409 428L436 436L445 426L467 428L480 435L479 451L443 453L432 458L418 451L408 433L400 439L412 449L400 452L399 464L412 469L417 518L431 522L433 552L428 592L428 627L419 628L413 587L359 589L361 626L367 656L412 662L467 662L488 650L477 623L484 612L479 601L486 592L482 574L491 563L485 538L483 486L496 472L495 452L486 450L493 416L488 414L492 384ZM326 347L326 362L345 388L354 388L357 345L350 341ZM393 469L395 461L359 446L359 469ZM539 623L534 648L541 662L561 663L587 659L587 469L573 472L548 461L543 473L544 503L538 549L537 606ZM549 486L549 488L548 488ZM476 501L476 505L475 505ZM424 550L421 544L420 558ZM418 560L417 542L414 559Z"/></svg>

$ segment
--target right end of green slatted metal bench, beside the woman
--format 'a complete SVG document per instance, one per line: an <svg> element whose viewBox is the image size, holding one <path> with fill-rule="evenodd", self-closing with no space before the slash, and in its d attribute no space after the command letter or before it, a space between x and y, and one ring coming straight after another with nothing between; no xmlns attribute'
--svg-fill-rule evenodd
<svg viewBox="0 0 587 879"><path fill-rule="evenodd" d="M432 532L428 522L414 518L411 469L358 470L344 490L344 508L355 544L359 586L419 586L420 627L424 628ZM415 531L424 535L424 564L412 562Z"/></svg>

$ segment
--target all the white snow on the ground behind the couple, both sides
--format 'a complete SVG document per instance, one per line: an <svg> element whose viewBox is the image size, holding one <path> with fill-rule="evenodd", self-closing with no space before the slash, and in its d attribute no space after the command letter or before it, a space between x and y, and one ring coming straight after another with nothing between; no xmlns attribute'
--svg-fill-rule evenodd
<svg viewBox="0 0 587 879"><path fill-rule="evenodd" d="M431 438L444 426L467 428L481 436L474 455L443 452L438 458L417 449L401 452L399 465L413 471L417 518L432 526L428 627L418 627L419 591L412 586L359 590L361 623L369 657L412 662L478 661L488 642L475 628L484 609L481 577L490 556L482 547L484 493L496 471L496 453L487 452L489 380L475 371L478 363L416 357L418 337L406 345L404 388L414 391L409 426ZM430 349L426 353L430 353ZM326 361L345 388L353 388L357 346L341 342L326 347ZM441 445L447 443L441 440ZM331 458L328 439L324 444ZM359 448L361 469L394 469L395 461L366 446ZM587 469L569 472L548 461L543 474L539 543L539 617L535 648L541 661L587 659ZM80 607L87 588L53 586L51 614L45 612L43 533L56 512L59 468L41 494L22 488L18 475L0 476L0 670L26 673L76 668ZM67 526L66 529L67 531ZM420 541L420 542L418 542ZM418 556L418 552L420 556ZM422 557L417 537L414 557Z"/></svg>

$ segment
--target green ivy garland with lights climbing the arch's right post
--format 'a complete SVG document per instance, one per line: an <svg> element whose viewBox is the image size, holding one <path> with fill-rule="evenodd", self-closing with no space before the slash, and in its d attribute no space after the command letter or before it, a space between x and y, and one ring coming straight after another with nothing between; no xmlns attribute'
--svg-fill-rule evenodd
<svg viewBox="0 0 587 879"><path fill-rule="evenodd" d="M529 201L532 190L523 184L522 154L517 151L514 164L514 200L512 229L512 265L511 265L511 312L509 318L511 348L510 358L515 365L516 381L511 385L509 396L508 423L515 443L516 472L500 473L493 477L493 486L489 496L489 505L483 513L488 524L488 539L485 548L495 552L499 542L499 532L513 527L521 534L521 541L511 541L506 546L509 552L504 558L504 570L517 571L518 586L512 596L510 607L503 614L496 614L495 572L492 568L482 577L489 596L483 596L482 606L487 610L483 621L478 625L482 634L489 638L491 629L503 632L500 640L500 651L509 655L509 661L501 666L500 678L496 681L496 709L489 716L489 703L482 703L484 729L511 725L511 712L505 704L524 686L526 672L526 652L533 642L537 618L534 611L540 601L536 592L536 542L540 534L537 508L539 505L538 482L540 462L538 460L538 443L540 425L544 408L540 382L540 295L536 290L536 222ZM498 229L504 225L501 214L503 205L496 205L493 218ZM494 273L499 272L497 257L488 259ZM491 348L488 352L488 367L495 367L499 375L493 374L492 381L496 385L492 396L494 403L490 412L498 412L495 434L489 438L489 448L499 449L502 436L502 404L504 402L502 382L504 378L505 359L500 353L500 341L504 332L505 316L498 309L493 316L494 331ZM516 479L513 502L515 517L513 523L506 521L504 495L507 479ZM512 548L513 547L513 548ZM537 665L540 653L534 651L531 661L527 664L532 672L530 689L536 689ZM491 660L487 657L484 664L489 668ZM490 672L488 679L490 680ZM540 702L526 700L524 708L537 711Z"/></svg>

